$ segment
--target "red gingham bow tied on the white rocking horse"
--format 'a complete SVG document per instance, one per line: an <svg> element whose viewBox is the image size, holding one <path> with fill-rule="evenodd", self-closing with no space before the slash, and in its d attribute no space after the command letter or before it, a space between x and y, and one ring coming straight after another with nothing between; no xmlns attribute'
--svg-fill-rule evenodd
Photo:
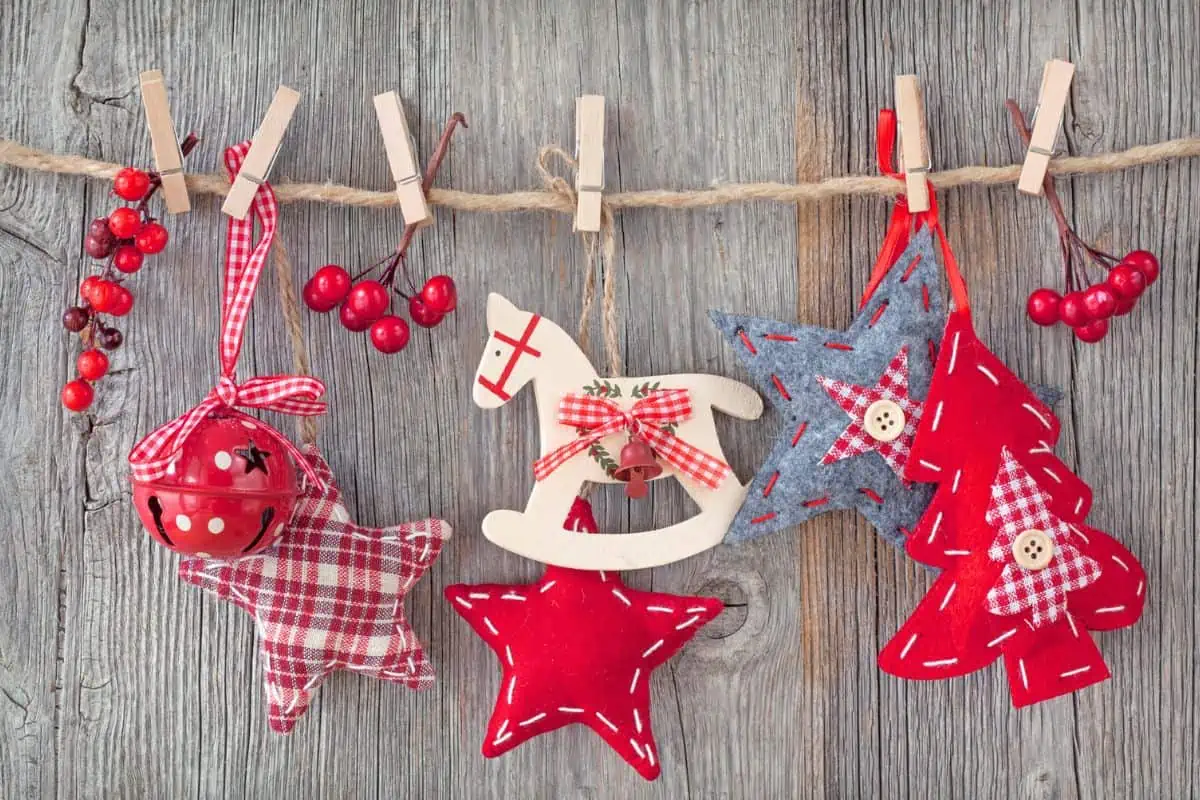
<svg viewBox="0 0 1200 800"><path fill-rule="evenodd" d="M628 411L602 397L568 395L558 405L558 421L580 428L581 434L534 462L534 477L540 481L605 437L629 431L644 439L660 458L677 470L715 489L730 474L730 465L661 427L689 419L691 395L686 389L653 392L634 403Z"/></svg>

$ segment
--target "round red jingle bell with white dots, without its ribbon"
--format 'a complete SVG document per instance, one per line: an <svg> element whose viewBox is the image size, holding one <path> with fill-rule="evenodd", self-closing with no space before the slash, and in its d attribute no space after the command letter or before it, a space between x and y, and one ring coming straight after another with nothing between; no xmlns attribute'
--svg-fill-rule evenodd
<svg viewBox="0 0 1200 800"><path fill-rule="evenodd" d="M203 558L270 547L299 493L280 434L245 416L210 416L184 441L163 477L133 481L133 505L150 536Z"/></svg>

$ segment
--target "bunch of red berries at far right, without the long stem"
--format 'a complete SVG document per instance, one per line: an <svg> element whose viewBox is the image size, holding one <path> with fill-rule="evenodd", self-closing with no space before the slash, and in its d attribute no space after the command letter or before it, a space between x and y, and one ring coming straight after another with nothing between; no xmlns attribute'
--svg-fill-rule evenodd
<svg viewBox="0 0 1200 800"><path fill-rule="evenodd" d="M1091 344L1109 332L1109 319L1133 311L1138 297L1158 278L1158 259L1145 249L1135 249L1120 261L1106 253L1087 251L1093 260L1110 266L1108 279L1066 295L1054 289L1037 289L1030 295L1025 311L1038 325L1063 323L1075 331L1080 342Z"/></svg>

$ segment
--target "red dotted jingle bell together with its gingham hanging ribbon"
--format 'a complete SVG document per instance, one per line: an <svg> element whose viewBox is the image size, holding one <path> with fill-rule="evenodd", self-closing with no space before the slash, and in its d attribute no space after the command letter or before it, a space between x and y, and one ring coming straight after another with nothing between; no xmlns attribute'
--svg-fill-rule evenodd
<svg viewBox="0 0 1200 800"><path fill-rule="evenodd" d="M230 179L250 150L226 150ZM251 218L229 218L221 297L221 378L196 408L151 431L130 451L133 501L155 541L180 553L240 555L269 547L292 517L300 487L289 459L311 480L316 473L275 428L239 410L283 414L325 411L325 386L316 378L272 375L239 384L238 355L250 306L278 216L270 184L254 194Z"/></svg>

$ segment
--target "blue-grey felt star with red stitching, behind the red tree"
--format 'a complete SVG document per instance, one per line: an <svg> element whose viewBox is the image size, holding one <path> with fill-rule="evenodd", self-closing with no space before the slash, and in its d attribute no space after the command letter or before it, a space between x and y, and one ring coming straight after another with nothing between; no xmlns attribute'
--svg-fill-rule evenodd
<svg viewBox="0 0 1200 800"><path fill-rule="evenodd" d="M725 541L858 509L881 536L901 543L931 495L898 476L946 324L930 227L911 236L846 331L721 312L712 318L782 417L779 441ZM902 397L908 409L912 429L900 444L862 435L863 414L880 397Z"/></svg>

